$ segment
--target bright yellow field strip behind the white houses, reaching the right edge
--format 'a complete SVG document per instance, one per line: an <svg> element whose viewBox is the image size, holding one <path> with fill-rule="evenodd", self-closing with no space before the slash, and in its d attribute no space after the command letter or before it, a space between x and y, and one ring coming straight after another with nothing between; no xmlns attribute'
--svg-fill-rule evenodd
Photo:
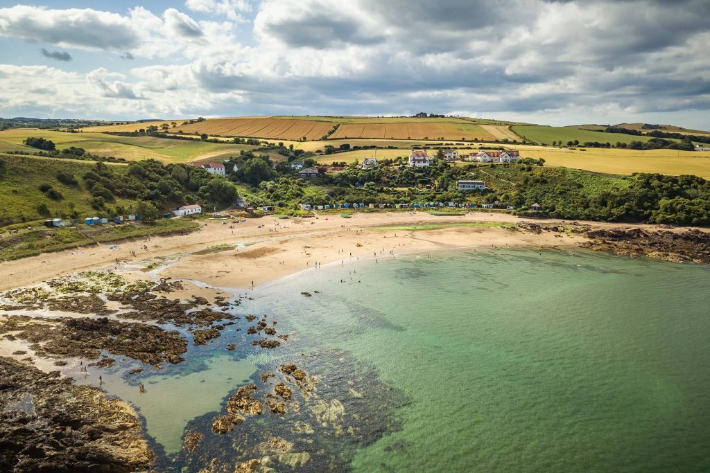
<svg viewBox="0 0 710 473"><path fill-rule="evenodd" d="M604 174L633 174L634 172L657 172L660 174L694 174L710 179L710 151L675 151L675 150L616 150L591 149L586 151L566 150L562 148L529 145L508 145L506 149L520 151L521 157L545 159L545 165L585 169ZM318 162L362 161L364 157L376 156L378 159L407 157L410 150L355 150L338 152L318 157ZM434 155L436 150L427 150ZM476 148L459 149L459 155L478 152Z"/></svg>

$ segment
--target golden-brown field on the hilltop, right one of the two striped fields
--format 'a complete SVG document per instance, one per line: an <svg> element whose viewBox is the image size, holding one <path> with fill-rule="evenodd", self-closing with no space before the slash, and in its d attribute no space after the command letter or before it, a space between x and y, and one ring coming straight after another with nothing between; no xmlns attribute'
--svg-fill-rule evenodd
<svg viewBox="0 0 710 473"><path fill-rule="evenodd" d="M402 123L342 123L329 136L332 139L380 138L390 140L496 140L501 139L483 128L483 125L467 121L416 121ZM505 128L505 127L503 127ZM506 128L507 130L507 128ZM498 129L496 128L496 133ZM508 132L510 133L510 132ZM515 138L510 139L518 139Z"/></svg>

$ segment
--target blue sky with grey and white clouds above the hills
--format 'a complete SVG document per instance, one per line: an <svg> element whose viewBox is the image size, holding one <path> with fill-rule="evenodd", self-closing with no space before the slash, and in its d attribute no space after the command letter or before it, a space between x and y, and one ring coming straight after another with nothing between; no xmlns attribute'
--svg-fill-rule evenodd
<svg viewBox="0 0 710 473"><path fill-rule="evenodd" d="M0 116L710 129L709 0L0 0Z"/></svg>

